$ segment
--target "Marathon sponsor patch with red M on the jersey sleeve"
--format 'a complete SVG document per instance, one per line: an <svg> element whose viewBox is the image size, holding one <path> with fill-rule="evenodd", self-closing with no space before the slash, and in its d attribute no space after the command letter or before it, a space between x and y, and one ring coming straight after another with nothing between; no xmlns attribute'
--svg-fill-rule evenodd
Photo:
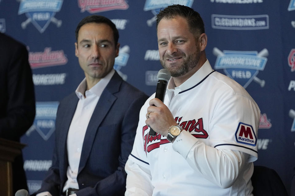
<svg viewBox="0 0 295 196"><path fill-rule="evenodd" d="M251 125L240 122L235 136L238 143L256 146L257 138Z"/></svg>

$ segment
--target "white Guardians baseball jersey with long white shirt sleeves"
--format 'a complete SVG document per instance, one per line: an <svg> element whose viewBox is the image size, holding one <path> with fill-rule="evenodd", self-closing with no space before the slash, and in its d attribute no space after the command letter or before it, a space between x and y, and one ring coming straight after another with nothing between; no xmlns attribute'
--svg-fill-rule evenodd
<svg viewBox="0 0 295 196"><path fill-rule="evenodd" d="M255 101L208 60L182 85L173 85L171 78L164 104L185 130L173 144L149 136L145 120L155 94L146 101L125 166L125 195L252 195L260 117Z"/></svg>

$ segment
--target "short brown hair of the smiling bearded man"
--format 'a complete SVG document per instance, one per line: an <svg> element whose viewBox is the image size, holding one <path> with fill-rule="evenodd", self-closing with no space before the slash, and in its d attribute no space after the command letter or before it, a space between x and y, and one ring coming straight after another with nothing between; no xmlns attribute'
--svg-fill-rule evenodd
<svg viewBox="0 0 295 196"><path fill-rule="evenodd" d="M182 6L182 5L171 5L166 8L161 8L159 13L156 15L157 24L156 29L158 30L158 25L160 20L164 19L172 19L175 17L183 17L187 20L189 29L191 33L201 35L205 33L204 22L201 18L200 14L196 12L194 9Z"/></svg>

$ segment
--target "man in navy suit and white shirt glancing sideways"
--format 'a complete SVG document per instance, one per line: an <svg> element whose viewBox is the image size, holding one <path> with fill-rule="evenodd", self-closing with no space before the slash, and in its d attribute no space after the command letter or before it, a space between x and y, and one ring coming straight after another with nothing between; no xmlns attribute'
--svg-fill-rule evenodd
<svg viewBox="0 0 295 196"><path fill-rule="evenodd" d="M53 164L37 196L124 195L124 166L148 97L113 69L118 38L108 18L78 24L75 54L85 79L58 107Z"/></svg>

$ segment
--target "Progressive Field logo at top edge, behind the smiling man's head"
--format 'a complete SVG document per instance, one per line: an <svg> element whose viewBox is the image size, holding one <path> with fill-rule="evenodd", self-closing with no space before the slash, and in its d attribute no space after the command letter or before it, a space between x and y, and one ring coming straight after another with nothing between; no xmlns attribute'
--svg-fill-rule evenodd
<svg viewBox="0 0 295 196"><path fill-rule="evenodd" d="M179 4L183 6L188 6L191 7L193 4L194 0L146 0L144 4L144 11L149 11L154 14L154 17L151 19L147 20L147 24L149 27L151 27L155 21L156 21L156 14L160 11L161 8L167 7L173 4Z"/></svg>

